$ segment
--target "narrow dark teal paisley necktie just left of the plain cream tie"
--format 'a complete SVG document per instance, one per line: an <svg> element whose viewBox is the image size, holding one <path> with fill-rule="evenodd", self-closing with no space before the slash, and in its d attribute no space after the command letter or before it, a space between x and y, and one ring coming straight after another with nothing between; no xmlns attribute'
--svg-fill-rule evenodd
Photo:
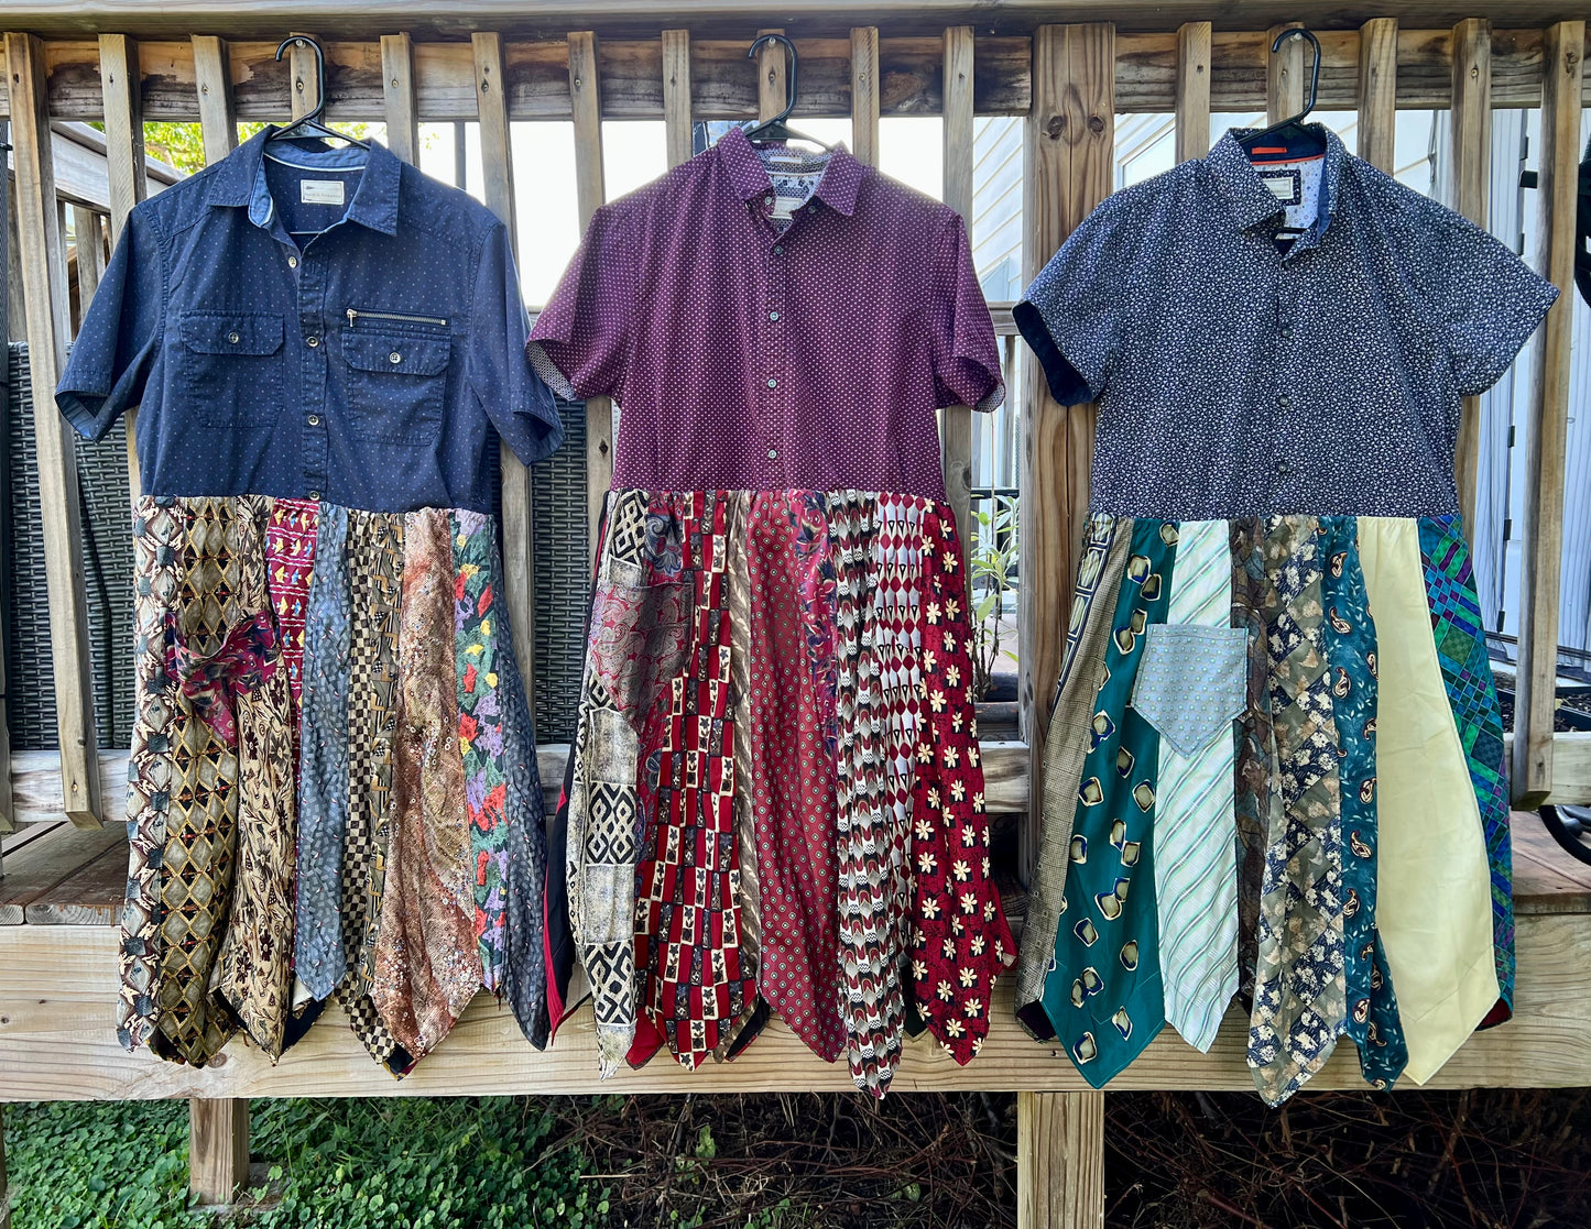
<svg viewBox="0 0 1591 1229"><path fill-rule="evenodd" d="M1321 547L1325 658L1341 744L1346 1030L1365 1080L1392 1087L1408 1062L1408 1041L1376 930L1376 626L1359 564L1357 520L1322 518Z"/></svg>

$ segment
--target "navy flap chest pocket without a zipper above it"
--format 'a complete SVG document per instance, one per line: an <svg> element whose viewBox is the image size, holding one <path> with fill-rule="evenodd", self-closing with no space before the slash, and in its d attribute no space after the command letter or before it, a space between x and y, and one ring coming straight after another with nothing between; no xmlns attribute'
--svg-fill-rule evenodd
<svg viewBox="0 0 1591 1229"><path fill-rule="evenodd" d="M181 386L200 426L267 428L282 413L282 316L188 312Z"/></svg>

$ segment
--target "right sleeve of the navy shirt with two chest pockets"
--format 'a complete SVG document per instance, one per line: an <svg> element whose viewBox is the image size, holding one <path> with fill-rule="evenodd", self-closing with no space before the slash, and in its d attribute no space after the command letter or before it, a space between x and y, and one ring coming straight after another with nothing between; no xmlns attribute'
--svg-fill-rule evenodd
<svg viewBox="0 0 1591 1229"><path fill-rule="evenodd" d="M563 442L558 402L525 355L528 334L530 315L519 293L508 227L496 223L476 269L465 380L503 442L527 466Z"/></svg>

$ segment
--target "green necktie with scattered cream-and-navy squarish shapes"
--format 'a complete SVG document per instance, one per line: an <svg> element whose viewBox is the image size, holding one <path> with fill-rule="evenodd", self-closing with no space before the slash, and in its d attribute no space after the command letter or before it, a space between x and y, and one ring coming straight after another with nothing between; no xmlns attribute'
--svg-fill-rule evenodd
<svg viewBox="0 0 1591 1229"><path fill-rule="evenodd" d="M1044 1010L1077 1070L1103 1087L1165 1025L1150 827L1160 736L1128 698L1150 623L1166 620L1177 528L1133 521L1072 822L1066 898Z"/></svg>

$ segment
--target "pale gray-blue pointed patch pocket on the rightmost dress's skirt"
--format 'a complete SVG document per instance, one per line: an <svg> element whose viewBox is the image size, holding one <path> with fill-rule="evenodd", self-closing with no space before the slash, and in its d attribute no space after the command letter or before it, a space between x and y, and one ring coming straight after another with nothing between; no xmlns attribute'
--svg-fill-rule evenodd
<svg viewBox="0 0 1591 1229"><path fill-rule="evenodd" d="M1246 628L1152 623L1133 682L1133 708L1184 758L1220 735L1247 704Z"/></svg>

